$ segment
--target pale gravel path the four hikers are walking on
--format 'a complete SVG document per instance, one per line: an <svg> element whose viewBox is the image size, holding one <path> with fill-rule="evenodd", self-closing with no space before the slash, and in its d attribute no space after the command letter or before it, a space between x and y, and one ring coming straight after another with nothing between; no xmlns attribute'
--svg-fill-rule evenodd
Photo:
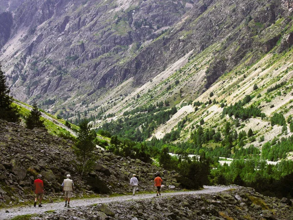
<svg viewBox="0 0 293 220"><path fill-rule="evenodd" d="M203 190L198 191L187 191L187 192L174 192L174 193L162 193L162 197L170 197L175 195L192 195L192 194L211 194L222 192L225 190L230 189L230 187L222 187L222 186L204 186ZM146 198L153 198L154 194L138 194L136 196L119 196L119 197L112 197L112 198L87 198L87 199L74 199L71 201L70 206L74 209L75 207L81 206L88 206L97 203L110 203L110 202L122 202L127 201L130 199L133 200L141 200ZM0 220L8 220L12 219L16 216L27 215L27 214L43 214L46 211L58 211L65 209L63 202L57 203L44 203L42 208L33 206L26 206L26 207L18 207L18 208L6 208L0 209ZM6 213L6 210L9 213Z"/></svg>

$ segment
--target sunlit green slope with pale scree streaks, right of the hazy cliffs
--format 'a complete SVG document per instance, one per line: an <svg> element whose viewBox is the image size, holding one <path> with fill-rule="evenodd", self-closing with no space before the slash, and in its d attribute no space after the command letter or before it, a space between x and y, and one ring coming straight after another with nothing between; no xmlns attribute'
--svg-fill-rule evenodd
<svg viewBox="0 0 293 220"><path fill-rule="evenodd" d="M257 106L266 118L251 117L240 121L242 126L236 128L238 133L252 129L256 134L256 139L247 146L261 147L276 136L292 135L289 124L285 133L279 125L270 126L274 113L283 114L286 120L293 114L292 3L277 0L205 3L207 10L200 15L192 14L198 9L193 7L188 12L193 19L188 17L181 25L175 25L170 33L177 39L182 38L180 45L193 42L198 46L189 47L181 59L129 95L119 96L119 93L136 82L134 78L108 91L109 101L101 107L95 108L95 103L91 103L93 110L87 114L102 112L104 116L95 120L97 127L105 122L105 117L108 122L118 118L124 120L126 111L167 100L178 112L159 125L152 136L161 139L177 130L178 124L184 121L179 141L187 141L201 119L205 122L204 129L218 126L223 129L221 125L235 119L222 117L224 107L251 95L253 99L245 107ZM187 22L192 25L188 26ZM209 24L209 28L203 28ZM176 32L176 28L180 30ZM184 31L188 34L184 35ZM196 35L198 37L194 38ZM209 44L203 46L207 37ZM197 102L205 105L196 106ZM262 136L264 142L259 141Z"/></svg>

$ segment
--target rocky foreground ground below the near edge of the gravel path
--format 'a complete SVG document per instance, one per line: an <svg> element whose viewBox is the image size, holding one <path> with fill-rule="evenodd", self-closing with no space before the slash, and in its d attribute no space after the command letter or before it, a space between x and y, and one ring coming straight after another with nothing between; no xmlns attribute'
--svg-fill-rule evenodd
<svg viewBox="0 0 293 220"><path fill-rule="evenodd" d="M235 186L228 190L226 188L222 192L211 189L204 194L181 192L179 195L165 197L129 200L116 198L88 206L51 210L30 218L33 220L292 220L293 206L290 199L264 197L252 188Z"/></svg>

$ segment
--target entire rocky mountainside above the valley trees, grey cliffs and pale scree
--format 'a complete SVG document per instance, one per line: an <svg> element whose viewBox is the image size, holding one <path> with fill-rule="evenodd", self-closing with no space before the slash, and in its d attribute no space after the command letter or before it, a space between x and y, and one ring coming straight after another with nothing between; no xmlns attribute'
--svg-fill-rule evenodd
<svg viewBox="0 0 293 220"><path fill-rule="evenodd" d="M267 118L243 120L237 132L255 128L270 141L291 135L268 125L275 112L293 113L292 7L290 0L26 1L2 24L0 61L14 97L72 121L91 116L97 128L137 107L176 107L149 137L163 138L188 116L186 141L201 119L207 128L225 120L221 102L252 95L248 106ZM208 103L195 110L198 101Z"/></svg>

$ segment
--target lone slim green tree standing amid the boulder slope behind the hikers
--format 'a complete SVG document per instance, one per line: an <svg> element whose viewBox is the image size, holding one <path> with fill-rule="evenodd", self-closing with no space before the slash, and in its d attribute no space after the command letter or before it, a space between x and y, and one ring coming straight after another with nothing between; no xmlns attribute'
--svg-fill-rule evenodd
<svg viewBox="0 0 293 220"><path fill-rule="evenodd" d="M91 130L92 126L88 124L87 119L84 119L79 124L79 130L77 132L77 142L74 147L74 152L78 160L78 170L81 175L84 175L86 171L89 171L94 163L95 150L94 139L96 132Z"/></svg>

